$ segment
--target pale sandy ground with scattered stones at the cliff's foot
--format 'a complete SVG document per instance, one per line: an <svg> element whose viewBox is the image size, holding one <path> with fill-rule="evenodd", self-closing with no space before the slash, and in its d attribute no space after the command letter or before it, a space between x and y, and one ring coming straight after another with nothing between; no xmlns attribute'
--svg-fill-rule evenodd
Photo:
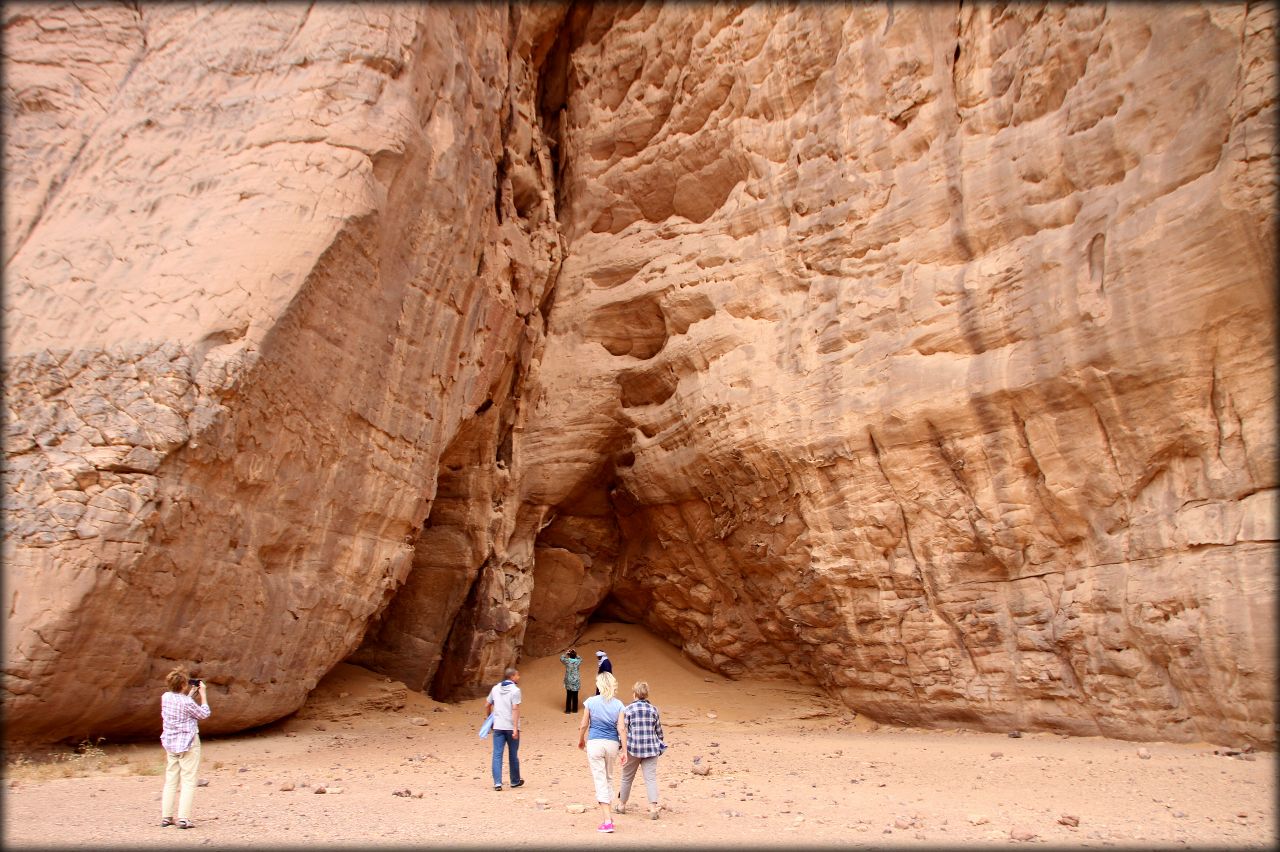
<svg viewBox="0 0 1280 852"><path fill-rule="evenodd" d="M521 670L521 789L493 789L490 741L476 737L483 700L442 705L340 665L293 716L205 738L193 830L159 826L163 778L148 774L163 765L159 742L106 745L106 760L83 777L8 765L4 846L1243 848L1276 839L1272 752L878 727L817 690L708 674L639 627L593 624L577 647L593 675L591 652L603 647L623 687L650 683L671 746L657 821L635 812L646 807L637 779L634 812L616 817L613 834L596 833L577 718L563 714L563 668L547 658ZM695 759L709 774L692 773Z"/></svg>

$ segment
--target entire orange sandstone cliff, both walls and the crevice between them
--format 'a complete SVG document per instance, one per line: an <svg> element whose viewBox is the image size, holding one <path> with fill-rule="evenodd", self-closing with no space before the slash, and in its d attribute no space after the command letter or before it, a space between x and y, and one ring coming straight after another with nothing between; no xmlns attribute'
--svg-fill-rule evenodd
<svg viewBox="0 0 1280 852"><path fill-rule="evenodd" d="M603 610L1274 743L1272 6L5 15L10 737Z"/></svg>

